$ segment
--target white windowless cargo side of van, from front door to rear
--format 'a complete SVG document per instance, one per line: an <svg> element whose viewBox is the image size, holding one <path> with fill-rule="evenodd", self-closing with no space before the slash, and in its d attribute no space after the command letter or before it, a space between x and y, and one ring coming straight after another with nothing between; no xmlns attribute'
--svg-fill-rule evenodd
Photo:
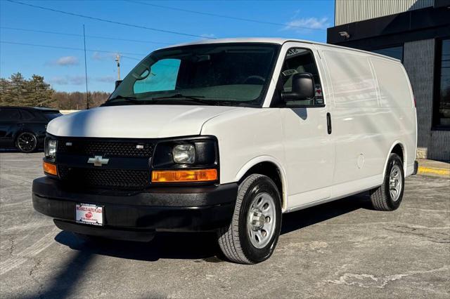
<svg viewBox="0 0 450 299"><path fill-rule="evenodd" d="M394 145L404 150L406 175L416 157L416 110L409 79L394 60L321 46L330 75L335 173L332 197L383 182Z"/></svg>

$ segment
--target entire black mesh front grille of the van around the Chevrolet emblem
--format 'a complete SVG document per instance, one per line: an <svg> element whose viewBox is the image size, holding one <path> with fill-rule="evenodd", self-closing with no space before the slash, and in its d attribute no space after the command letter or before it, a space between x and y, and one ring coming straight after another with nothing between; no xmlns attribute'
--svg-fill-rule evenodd
<svg viewBox="0 0 450 299"><path fill-rule="evenodd" d="M61 138L57 147L58 175L67 184L124 190L144 189L150 185L148 161L155 147L150 140ZM95 156L110 162L93 167L87 161Z"/></svg>

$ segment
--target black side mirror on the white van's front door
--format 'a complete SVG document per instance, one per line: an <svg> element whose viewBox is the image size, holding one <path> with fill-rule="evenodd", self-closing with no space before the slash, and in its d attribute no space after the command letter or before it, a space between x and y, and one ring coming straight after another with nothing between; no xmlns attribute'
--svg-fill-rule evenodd
<svg viewBox="0 0 450 299"><path fill-rule="evenodd" d="M282 92L281 98L285 101L311 100L316 91L314 89L314 78L310 73L293 75L293 88L291 92Z"/></svg>

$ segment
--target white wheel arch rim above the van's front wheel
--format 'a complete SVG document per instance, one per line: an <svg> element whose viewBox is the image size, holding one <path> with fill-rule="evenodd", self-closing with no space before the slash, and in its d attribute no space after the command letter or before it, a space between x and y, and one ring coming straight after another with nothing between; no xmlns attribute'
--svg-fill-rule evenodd
<svg viewBox="0 0 450 299"><path fill-rule="evenodd" d="M248 175L253 173L267 175L269 178L274 180L281 195L281 208L284 212L288 206L288 184L285 170L281 163L271 156L255 157L240 168L238 173L236 173L235 181L241 182Z"/></svg>

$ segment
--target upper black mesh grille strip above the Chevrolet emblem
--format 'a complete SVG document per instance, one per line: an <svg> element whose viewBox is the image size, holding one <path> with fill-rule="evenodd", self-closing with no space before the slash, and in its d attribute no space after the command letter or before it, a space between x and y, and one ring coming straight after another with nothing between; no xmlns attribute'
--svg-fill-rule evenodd
<svg viewBox="0 0 450 299"><path fill-rule="evenodd" d="M109 142L103 140L58 140L58 153L103 157L151 157L153 144L149 142Z"/></svg>

